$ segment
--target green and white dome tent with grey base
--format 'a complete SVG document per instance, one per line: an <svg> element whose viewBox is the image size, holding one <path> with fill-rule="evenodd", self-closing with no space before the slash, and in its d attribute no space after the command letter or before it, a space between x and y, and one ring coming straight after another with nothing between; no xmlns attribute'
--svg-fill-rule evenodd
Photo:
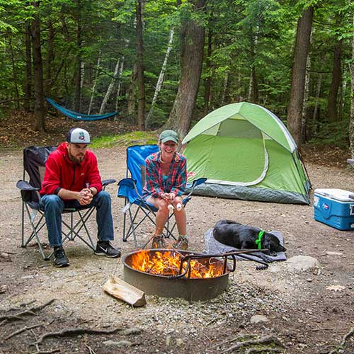
<svg viewBox="0 0 354 354"><path fill-rule="evenodd" d="M261 105L224 105L183 139L188 178L207 178L195 194L309 204L311 183L282 121Z"/></svg>

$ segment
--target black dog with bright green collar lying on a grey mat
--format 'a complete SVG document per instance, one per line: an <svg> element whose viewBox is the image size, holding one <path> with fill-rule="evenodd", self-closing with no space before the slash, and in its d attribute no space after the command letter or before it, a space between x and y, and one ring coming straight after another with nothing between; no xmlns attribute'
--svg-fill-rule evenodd
<svg viewBox="0 0 354 354"><path fill-rule="evenodd" d="M240 224L231 220L219 220L214 227L214 238L236 249L258 249L256 240L261 229ZM280 244L278 237L264 232L261 238L261 248L267 249L265 254L276 256L277 252L285 252L286 249Z"/></svg>

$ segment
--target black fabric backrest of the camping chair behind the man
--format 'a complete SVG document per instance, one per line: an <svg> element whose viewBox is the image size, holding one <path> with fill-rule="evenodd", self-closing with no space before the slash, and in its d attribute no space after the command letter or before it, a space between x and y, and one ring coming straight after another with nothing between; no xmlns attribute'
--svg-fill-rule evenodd
<svg viewBox="0 0 354 354"><path fill-rule="evenodd" d="M57 147L25 147L23 149L23 179L25 179L25 172L30 178L30 185L40 188L44 171L45 161L51 152L54 152Z"/></svg>

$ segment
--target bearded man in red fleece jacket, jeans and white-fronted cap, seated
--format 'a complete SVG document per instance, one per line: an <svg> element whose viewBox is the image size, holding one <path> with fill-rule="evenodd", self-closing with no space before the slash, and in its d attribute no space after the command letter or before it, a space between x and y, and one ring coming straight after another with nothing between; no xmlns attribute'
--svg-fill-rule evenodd
<svg viewBox="0 0 354 354"><path fill-rule="evenodd" d="M115 258L113 219L109 193L102 190L97 159L87 150L89 132L81 128L69 130L67 142L59 145L45 163L45 176L40 190L40 208L45 212L50 245L54 247L54 265L65 267L69 260L62 247L62 211L64 207L85 209L96 206L98 242L95 254Z"/></svg>

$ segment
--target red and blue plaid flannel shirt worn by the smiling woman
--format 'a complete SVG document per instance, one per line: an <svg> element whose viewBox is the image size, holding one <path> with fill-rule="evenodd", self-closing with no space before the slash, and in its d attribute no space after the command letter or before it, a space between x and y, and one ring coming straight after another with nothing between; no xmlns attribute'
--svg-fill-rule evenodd
<svg viewBox="0 0 354 354"><path fill-rule="evenodd" d="M149 196L161 198L163 193L182 195L187 183L187 159L176 152L171 161L169 176L164 181L162 178L160 152L147 156L146 179L142 190L143 198Z"/></svg>

